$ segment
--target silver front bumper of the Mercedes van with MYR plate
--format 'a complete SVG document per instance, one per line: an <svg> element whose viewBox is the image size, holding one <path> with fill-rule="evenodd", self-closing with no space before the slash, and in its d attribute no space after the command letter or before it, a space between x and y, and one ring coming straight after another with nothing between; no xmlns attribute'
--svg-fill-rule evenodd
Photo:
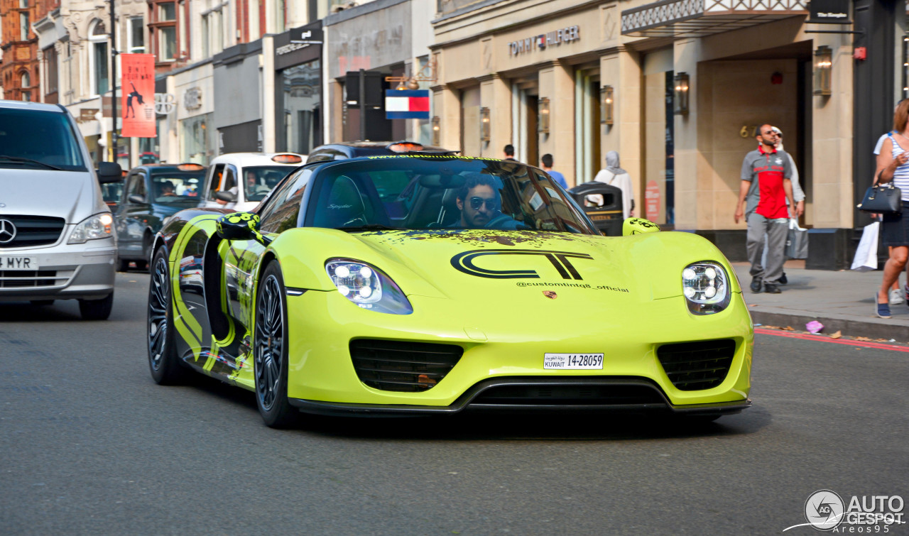
<svg viewBox="0 0 909 536"><path fill-rule="evenodd" d="M67 226L64 236L69 234ZM0 258L29 257L38 270L0 271L0 302L100 300L114 292L113 237L51 246L0 250Z"/></svg>

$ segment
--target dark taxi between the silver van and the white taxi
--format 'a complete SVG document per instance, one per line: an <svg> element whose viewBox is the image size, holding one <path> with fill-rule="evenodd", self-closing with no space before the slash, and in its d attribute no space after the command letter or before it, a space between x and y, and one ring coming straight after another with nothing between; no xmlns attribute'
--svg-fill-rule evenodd
<svg viewBox="0 0 909 536"><path fill-rule="evenodd" d="M129 171L114 213L118 271L125 272L131 261L145 269L165 218L197 206L204 181L201 164L145 164Z"/></svg>

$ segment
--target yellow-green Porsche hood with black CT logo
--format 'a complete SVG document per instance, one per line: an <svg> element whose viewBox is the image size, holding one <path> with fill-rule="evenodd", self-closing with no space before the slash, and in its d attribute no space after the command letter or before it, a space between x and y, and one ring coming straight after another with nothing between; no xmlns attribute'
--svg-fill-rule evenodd
<svg viewBox="0 0 909 536"><path fill-rule="evenodd" d="M485 230L344 233L309 228L285 232L275 245L295 241L295 236L300 237L300 248L311 259L308 265L318 280L302 278L298 284L319 290L335 287L315 264L348 258L382 270L408 295L484 306L492 300L520 307L529 296L558 301L565 312L582 304L633 306L682 295L682 271L699 261L724 266L733 292L740 292L723 253L694 233L606 237Z"/></svg>

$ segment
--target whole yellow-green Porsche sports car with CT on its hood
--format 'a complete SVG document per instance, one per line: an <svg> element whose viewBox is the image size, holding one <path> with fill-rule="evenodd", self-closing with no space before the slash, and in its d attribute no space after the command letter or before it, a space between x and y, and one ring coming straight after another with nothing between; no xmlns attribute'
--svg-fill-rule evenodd
<svg viewBox="0 0 909 536"><path fill-rule="evenodd" d="M251 213L155 237L148 359L300 412L656 412L748 398L754 327L724 255L641 219L598 233L543 171L453 154L306 164Z"/></svg>

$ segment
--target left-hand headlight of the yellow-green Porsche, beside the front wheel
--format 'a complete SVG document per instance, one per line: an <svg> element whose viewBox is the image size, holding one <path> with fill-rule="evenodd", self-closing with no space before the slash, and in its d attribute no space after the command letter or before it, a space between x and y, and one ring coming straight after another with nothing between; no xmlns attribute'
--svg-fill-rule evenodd
<svg viewBox="0 0 909 536"><path fill-rule="evenodd" d="M414 312L405 293L375 266L351 259L329 259L325 272L339 293L364 309L391 314Z"/></svg>

